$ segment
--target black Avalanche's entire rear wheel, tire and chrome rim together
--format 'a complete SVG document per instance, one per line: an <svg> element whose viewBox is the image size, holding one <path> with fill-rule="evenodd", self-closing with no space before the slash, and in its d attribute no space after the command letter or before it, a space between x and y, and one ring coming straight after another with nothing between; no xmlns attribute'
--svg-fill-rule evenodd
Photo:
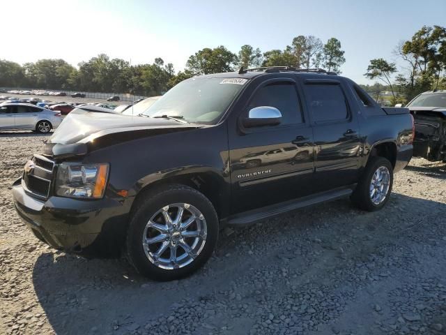
<svg viewBox="0 0 446 335"><path fill-rule="evenodd" d="M370 157L351 200L366 211L384 207L392 192L393 168L383 157Z"/></svg>

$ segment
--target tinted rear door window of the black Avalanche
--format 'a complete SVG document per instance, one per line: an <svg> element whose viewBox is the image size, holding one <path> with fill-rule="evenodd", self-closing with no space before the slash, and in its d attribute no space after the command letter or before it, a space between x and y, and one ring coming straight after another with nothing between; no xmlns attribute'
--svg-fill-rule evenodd
<svg viewBox="0 0 446 335"><path fill-rule="evenodd" d="M305 84L305 97L314 122L348 117L346 98L339 84Z"/></svg>

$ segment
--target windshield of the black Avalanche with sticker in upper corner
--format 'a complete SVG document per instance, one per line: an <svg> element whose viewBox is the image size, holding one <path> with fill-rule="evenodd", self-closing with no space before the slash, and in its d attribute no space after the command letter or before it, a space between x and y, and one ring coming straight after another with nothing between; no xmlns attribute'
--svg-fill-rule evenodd
<svg viewBox="0 0 446 335"><path fill-rule="evenodd" d="M242 78L191 78L180 82L143 114L215 124L246 82Z"/></svg>

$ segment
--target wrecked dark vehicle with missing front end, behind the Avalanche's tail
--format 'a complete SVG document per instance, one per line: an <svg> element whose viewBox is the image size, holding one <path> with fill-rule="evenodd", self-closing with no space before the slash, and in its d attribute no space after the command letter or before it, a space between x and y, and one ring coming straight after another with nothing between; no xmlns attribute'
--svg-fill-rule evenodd
<svg viewBox="0 0 446 335"><path fill-rule="evenodd" d="M426 91L406 107L415 118L413 156L446 163L446 91Z"/></svg>

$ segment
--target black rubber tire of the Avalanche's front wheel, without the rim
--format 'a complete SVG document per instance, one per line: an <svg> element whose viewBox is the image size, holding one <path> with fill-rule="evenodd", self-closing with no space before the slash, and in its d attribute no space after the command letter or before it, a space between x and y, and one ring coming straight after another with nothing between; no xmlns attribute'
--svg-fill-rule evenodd
<svg viewBox="0 0 446 335"><path fill-rule="evenodd" d="M149 260L142 244L146 224L163 207L187 203L198 209L207 226L206 242L190 264L178 269L162 269ZM190 276L206 263L217 245L219 221L213 204L199 191L183 185L172 185L148 192L133 211L126 238L126 252L130 263L139 274L155 281L172 281ZM164 243L164 242L162 242Z"/></svg>

